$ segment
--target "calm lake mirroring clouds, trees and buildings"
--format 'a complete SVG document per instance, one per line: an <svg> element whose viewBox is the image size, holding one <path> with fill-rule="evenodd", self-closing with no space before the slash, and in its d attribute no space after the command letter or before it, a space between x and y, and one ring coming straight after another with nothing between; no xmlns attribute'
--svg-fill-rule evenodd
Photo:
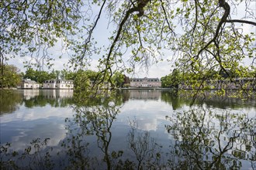
<svg viewBox="0 0 256 170"><path fill-rule="evenodd" d="M0 90L2 169L256 169L256 102Z"/></svg>

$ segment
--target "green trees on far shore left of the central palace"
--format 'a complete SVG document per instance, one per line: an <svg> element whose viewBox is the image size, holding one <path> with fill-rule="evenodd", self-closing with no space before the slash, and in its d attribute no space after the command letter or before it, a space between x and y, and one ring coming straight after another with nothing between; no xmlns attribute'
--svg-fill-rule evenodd
<svg viewBox="0 0 256 170"><path fill-rule="evenodd" d="M0 78L0 87L9 88L17 87L21 80L34 80L37 83L43 83L45 80L61 79L61 80L74 80L74 85L81 85L90 83L97 79L99 73L93 70L78 70L75 72L69 70L52 70L50 72L44 70L33 70L28 68L25 73L20 72L19 68L14 65L5 65L3 76ZM130 79L123 73L116 72L113 74L112 87L128 87ZM78 87L78 86L77 86Z"/></svg>

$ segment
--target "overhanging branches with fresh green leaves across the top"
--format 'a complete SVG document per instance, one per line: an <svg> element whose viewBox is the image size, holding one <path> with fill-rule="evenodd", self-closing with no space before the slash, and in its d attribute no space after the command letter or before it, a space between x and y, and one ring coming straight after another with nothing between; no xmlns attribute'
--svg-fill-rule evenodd
<svg viewBox="0 0 256 170"><path fill-rule="evenodd" d="M131 72L174 60L178 70L194 76L187 77L188 82L206 80L213 70L216 79L220 70L244 77L247 70L255 70L255 3L6 0L0 2L1 66L12 56L28 55L37 66L50 66L56 56L48 52L62 42L74 69L86 68L99 55L102 82L116 70ZM103 45L94 39L102 22L106 27L101 32L110 32L109 43ZM244 59L250 61L246 69L240 67ZM201 86L202 82L195 84Z"/></svg>

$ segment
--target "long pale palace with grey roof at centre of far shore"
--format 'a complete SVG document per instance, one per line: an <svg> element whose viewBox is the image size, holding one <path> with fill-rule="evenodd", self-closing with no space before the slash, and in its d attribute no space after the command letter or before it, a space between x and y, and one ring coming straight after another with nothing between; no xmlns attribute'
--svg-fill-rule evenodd
<svg viewBox="0 0 256 170"><path fill-rule="evenodd" d="M161 81L158 78L133 78L130 87L161 87Z"/></svg>

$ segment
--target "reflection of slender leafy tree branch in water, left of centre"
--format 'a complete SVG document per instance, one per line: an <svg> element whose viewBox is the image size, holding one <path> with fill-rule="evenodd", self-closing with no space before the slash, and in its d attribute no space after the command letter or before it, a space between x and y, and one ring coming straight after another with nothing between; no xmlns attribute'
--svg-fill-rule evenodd
<svg viewBox="0 0 256 170"><path fill-rule="evenodd" d="M119 113L118 108L114 106L114 104L109 103L109 106L98 106L98 107L78 107L75 108L76 114L74 116L74 120L67 120L70 121L71 124L68 127L72 136L71 140L67 140L67 144L72 144L71 148L79 148L78 150L71 149L68 150L68 153L73 152L74 154L69 155L79 155L78 158L71 156L69 161L75 162L75 165L82 165L85 163L85 159L88 157L83 158L84 155L81 153L83 151L81 149L81 142L86 141L86 137L90 135L95 135L97 137L97 145L104 154L103 162L106 162L107 168L111 168L111 155L109 155L109 144L112 138L112 133L110 131L112 127L112 122L116 118L116 114ZM74 124L76 126L74 126ZM76 127L76 128L75 128ZM74 129L73 129L74 128ZM75 135L72 133L75 131ZM83 145L85 147L89 145ZM88 151L85 151L88 152ZM75 159L75 160L74 160ZM92 159L92 158L89 158ZM96 160L96 158L93 158ZM92 165L87 165L92 166Z"/></svg>

